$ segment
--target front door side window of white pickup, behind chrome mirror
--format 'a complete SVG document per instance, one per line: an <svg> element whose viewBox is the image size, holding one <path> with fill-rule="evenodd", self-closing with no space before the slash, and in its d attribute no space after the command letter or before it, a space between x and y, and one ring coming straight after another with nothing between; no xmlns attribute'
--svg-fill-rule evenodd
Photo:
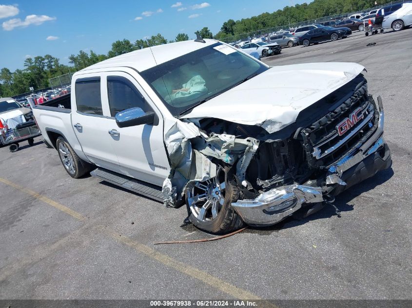
<svg viewBox="0 0 412 308"><path fill-rule="evenodd" d="M121 76L107 77L107 94L109 98L110 115L114 117L116 113L138 107L143 111L148 111L146 100L137 91L136 87L129 79Z"/></svg>

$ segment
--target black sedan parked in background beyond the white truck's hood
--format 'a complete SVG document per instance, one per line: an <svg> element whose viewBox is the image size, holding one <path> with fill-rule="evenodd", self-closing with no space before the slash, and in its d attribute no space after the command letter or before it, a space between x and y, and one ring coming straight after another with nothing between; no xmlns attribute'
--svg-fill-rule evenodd
<svg viewBox="0 0 412 308"><path fill-rule="evenodd" d="M322 27L318 29L311 30L299 37L299 44L304 47L310 44L317 44L319 42L324 42L328 40L335 41L338 38L344 38L352 34L352 30L349 28L332 28L332 27Z"/></svg>

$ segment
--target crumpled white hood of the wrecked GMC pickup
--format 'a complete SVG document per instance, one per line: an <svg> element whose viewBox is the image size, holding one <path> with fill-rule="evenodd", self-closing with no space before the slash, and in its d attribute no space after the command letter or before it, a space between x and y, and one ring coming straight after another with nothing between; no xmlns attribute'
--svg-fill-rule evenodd
<svg viewBox="0 0 412 308"><path fill-rule="evenodd" d="M181 118L217 118L273 133L365 68L356 63L277 66L195 107Z"/></svg>

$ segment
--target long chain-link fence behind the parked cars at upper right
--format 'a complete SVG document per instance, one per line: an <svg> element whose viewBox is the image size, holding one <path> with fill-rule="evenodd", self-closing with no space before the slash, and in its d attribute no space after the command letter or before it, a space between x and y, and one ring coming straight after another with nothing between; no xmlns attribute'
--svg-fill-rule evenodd
<svg viewBox="0 0 412 308"><path fill-rule="evenodd" d="M392 4L403 3L403 2L408 2L408 1L410 1L410 0L392 1L392 2L382 4L382 5L377 5L377 6L369 8L369 9L362 10L362 11L356 11L356 12L344 13L344 14L336 14L336 15L325 16L325 17L320 17L320 18L311 19L311 20L294 22L294 23L291 23L291 24L288 24L288 25L256 30L256 31L253 31L253 32L237 34L235 36L227 36L227 37L225 37L221 40L225 43L232 43L232 42L236 42L236 41L239 41L239 40L247 40L247 39L252 38L252 37L265 36L268 33L275 33L279 30L289 31L290 29L296 29L296 28L301 27L301 26L312 25L312 24L315 24L315 23L319 23L319 22L323 22L323 21L327 21L327 20L331 20L331 19L348 18L349 16L351 16L353 14L367 13L367 12L370 12L372 10L380 9L382 7L386 7L386 6L389 6L389 5L392 5Z"/></svg>

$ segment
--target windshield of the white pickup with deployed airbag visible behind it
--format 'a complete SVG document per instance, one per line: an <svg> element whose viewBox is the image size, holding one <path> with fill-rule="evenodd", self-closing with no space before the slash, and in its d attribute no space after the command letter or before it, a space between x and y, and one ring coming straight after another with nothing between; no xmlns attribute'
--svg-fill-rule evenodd
<svg viewBox="0 0 412 308"><path fill-rule="evenodd" d="M235 48L216 43L141 72L173 116L268 70Z"/></svg>

